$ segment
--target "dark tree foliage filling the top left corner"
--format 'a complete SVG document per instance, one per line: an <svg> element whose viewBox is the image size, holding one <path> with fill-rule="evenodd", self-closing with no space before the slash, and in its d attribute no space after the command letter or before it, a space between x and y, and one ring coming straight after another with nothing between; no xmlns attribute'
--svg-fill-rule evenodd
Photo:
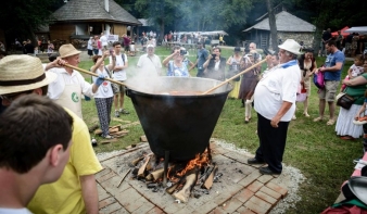
<svg viewBox="0 0 367 214"><path fill-rule="evenodd" d="M59 0L12 0L2 1L0 7L0 28L5 37L29 38L35 41L34 30L48 24L52 11L62 5ZM10 39L8 39L8 45Z"/></svg>

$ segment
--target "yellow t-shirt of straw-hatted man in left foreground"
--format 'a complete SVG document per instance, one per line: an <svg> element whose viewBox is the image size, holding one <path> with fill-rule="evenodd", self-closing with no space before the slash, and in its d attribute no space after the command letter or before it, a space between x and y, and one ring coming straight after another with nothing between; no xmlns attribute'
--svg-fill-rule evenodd
<svg viewBox="0 0 367 214"><path fill-rule="evenodd" d="M65 110L74 119L71 156L59 180L39 187L27 206L33 213L86 213L79 176L93 175L102 169L91 147L87 125Z"/></svg>

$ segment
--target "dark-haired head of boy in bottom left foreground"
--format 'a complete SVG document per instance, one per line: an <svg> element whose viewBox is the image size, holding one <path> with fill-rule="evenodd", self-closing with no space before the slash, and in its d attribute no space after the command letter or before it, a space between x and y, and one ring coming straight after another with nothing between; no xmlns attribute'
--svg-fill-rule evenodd
<svg viewBox="0 0 367 214"><path fill-rule="evenodd" d="M52 100L23 95L0 115L0 168L56 180L68 161L73 118Z"/></svg>

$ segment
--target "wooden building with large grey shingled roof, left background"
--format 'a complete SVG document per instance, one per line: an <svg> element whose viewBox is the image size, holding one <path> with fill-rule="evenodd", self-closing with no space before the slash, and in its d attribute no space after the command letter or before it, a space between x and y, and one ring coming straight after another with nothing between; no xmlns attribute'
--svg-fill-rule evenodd
<svg viewBox="0 0 367 214"><path fill-rule="evenodd" d="M72 42L93 35L127 34L128 26L142 25L113 0L69 0L52 15L50 39Z"/></svg>

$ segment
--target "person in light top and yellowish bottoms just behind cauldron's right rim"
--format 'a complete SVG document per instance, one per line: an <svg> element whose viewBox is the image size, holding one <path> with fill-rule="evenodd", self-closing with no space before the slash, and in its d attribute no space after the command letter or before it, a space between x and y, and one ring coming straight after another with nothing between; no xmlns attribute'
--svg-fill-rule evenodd
<svg viewBox="0 0 367 214"><path fill-rule="evenodd" d="M236 47L235 48L235 54L229 56L227 60L227 65L229 65L229 70L227 72L226 78L231 78L236 74L240 72L240 63L241 63L241 48ZM233 89L229 92L228 98L238 98L238 95L240 92L240 77L235 78L233 80L230 81L230 84L233 86Z"/></svg>

